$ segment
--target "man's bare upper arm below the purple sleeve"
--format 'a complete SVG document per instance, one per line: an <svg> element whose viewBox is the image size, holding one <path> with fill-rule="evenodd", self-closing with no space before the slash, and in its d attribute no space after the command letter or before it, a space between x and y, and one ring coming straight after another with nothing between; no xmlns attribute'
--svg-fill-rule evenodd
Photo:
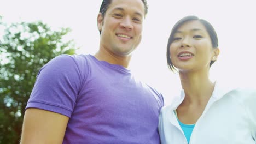
<svg viewBox="0 0 256 144"><path fill-rule="evenodd" d="M27 109L20 143L62 143L69 117L40 109Z"/></svg>

